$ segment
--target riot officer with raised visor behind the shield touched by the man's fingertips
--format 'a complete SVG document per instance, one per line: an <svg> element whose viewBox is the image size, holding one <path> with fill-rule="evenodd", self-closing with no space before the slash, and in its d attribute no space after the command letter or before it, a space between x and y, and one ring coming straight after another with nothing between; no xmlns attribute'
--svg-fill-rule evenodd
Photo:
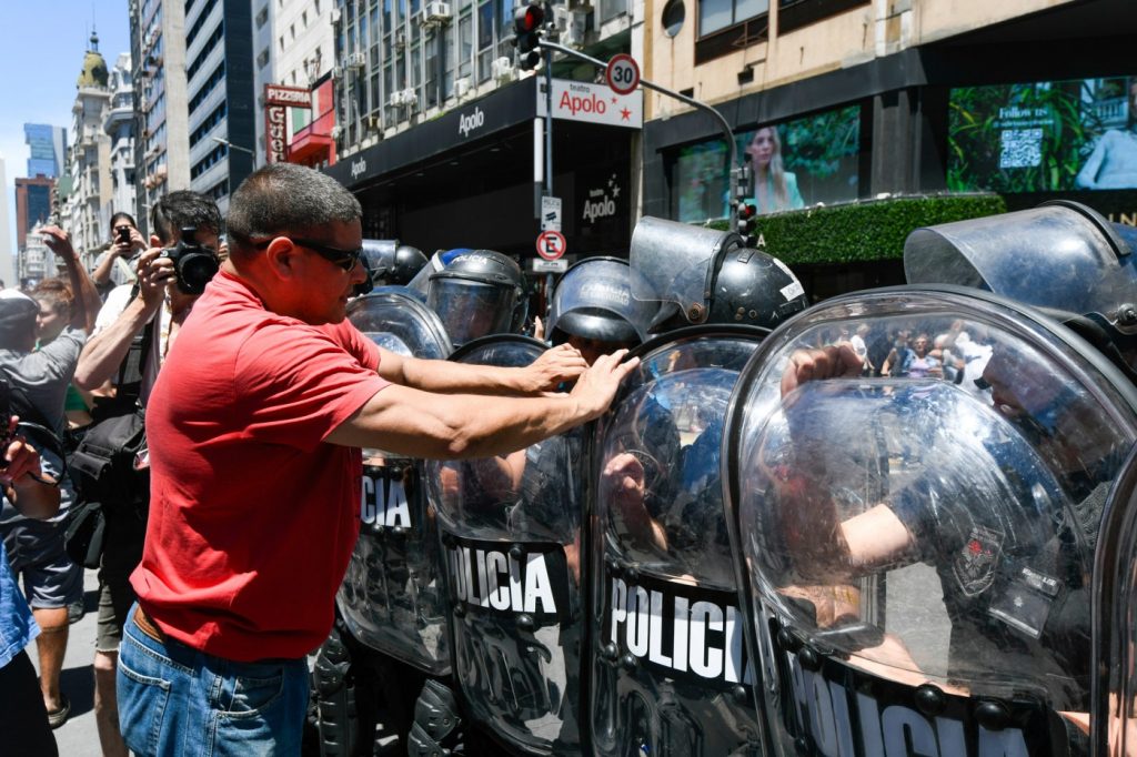
<svg viewBox="0 0 1137 757"><path fill-rule="evenodd" d="M738 371L807 300L783 264L731 233L644 218L630 259L659 335L597 433L594 751L760 754L720 442Z"/></svg>

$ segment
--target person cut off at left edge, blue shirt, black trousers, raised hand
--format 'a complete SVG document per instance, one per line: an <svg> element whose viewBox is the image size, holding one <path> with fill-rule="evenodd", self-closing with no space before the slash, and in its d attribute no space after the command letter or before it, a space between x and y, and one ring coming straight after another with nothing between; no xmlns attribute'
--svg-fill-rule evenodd
<svg viewBox="0 0 1137 757"><path fill-rule="evenodd" d="M15 432L15 423L8 431L9 434ZM0 485L5 499L25 517L53 516L59 508L59 489L43 476L39 454L16 438L6 446L3 459L6 466L0 471ZM39 694L35 668L24 651L39 633L0 541L0 733L3 733L6 754L8 750L13 755L52 757L58 754L55 735L48 726L47 708Z"/></svg>

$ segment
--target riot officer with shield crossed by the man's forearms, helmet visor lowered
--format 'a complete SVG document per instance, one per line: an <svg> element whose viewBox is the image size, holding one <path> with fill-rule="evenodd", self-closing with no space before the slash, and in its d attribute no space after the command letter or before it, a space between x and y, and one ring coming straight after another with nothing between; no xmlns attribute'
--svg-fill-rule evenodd
<svg viewBox="0 0 1137 757"><path fill-rule="evenodd" d="M631 297L626 261L589 258L557 284L549 335L555 349L579 349L591 363L638 344L654 309ZM499 334L467 342L459 359L523 361L540 349L528 338ZM488 734L511 752L582 750L582 434L572 433L508 456L434 469L455 587L457 682L467 702L464 717L478 730L467 743ZM516 584L515 598L493 591L501 581L492 577L495 565L507 568L503 574ZM446 712L448 701L448 692L432 685L420 698L420 710ZM418 752L454 743L456 734L440 727L441 719L425 717L416 725L410 741Z"/></svg>

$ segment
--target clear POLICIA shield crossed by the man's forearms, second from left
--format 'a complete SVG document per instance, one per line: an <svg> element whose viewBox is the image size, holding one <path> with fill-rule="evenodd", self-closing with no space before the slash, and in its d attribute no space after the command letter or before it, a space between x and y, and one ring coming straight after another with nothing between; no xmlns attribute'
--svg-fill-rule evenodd
<svg viewBox="0 0 1137 757"><path fill-rule="evenodd" d="M501 334L451 359L521 367L545 349ZM581 433L429 471L465 712L515 752L580 751Z"/></svg>

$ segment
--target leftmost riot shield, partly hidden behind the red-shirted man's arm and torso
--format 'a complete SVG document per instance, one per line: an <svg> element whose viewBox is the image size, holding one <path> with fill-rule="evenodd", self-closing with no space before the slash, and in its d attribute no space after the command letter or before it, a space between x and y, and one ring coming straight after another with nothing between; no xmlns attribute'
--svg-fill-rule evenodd
<svg viewBox="0 0 1137 757"><path fill-rule="evenodd" d="M398 355L445 359L451 351L438 316L401 286L354 300L348 318ZM445 576L422 469L422 460L364 450L359 540L337 605L365 646L443 675L450 669Z"/></svg>

